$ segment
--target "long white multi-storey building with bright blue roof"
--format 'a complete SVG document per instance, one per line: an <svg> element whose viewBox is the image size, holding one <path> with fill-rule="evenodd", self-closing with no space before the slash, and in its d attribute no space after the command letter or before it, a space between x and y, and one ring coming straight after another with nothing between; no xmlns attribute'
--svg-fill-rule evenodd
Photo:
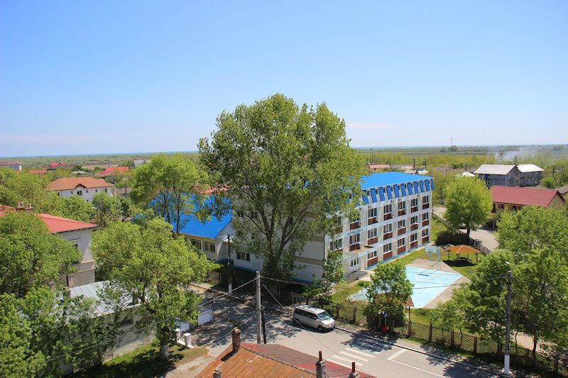
<svg viewBox="0 0 568 378"><path fill-rule="evenodd" d="M354 196L359 218L337 219L334 235L315 235L295 257L295 279L313 282L320 278L324 261L331 251L342 251L345 275L371 269L386 260L403 255L430 242L432 230L432 177L400 172L370 174L364 177L362 193ZM239 211L233 216L239 217ZM193 217L183 220L182 235L207 257L227 258L228 235L234 235L231 214L204 223ZM231 238L231 240L234 240ZM231 254L234 266L262 270L261 257L244 250Z"/></svg>

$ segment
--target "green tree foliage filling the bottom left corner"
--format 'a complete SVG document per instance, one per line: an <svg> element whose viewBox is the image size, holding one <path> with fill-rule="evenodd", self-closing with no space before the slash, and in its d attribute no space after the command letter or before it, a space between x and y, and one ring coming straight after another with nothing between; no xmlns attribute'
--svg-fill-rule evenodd
<svg viewBox="0 0 568 378"><path fill-rule="evenodd" d="M18 299L0 295L0 377L32 377L45 366L41 352L31 349L30 322L22 316Z"/></svg>

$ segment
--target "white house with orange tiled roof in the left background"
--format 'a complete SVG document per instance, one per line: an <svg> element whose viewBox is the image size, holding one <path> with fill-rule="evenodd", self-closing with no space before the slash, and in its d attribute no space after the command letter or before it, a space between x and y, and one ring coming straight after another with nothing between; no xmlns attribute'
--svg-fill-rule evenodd
<svg viewBox="0 0 568 378"><path fill-rule="evenodd" d="M114 185L94 177L63 177L50 182L48 190L55 191L60 197L80 196L87 202L94 194L107 193L112 196Z"/></svg>

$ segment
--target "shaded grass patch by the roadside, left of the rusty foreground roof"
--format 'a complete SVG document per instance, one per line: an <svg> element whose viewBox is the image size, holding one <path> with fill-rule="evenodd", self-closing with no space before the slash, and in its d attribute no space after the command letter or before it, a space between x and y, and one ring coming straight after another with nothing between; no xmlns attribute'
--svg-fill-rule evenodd
<svg viewBox="0 0 568 378"><path fill-rule="evenodd" d="M167 361L158 358L158 346L146 345L133 352L104 362L102 366L92 367L75 377L158 377L175 367L177 362L189 361L207 354L207 348L183 348L180 345L170 347Z"/></svg>

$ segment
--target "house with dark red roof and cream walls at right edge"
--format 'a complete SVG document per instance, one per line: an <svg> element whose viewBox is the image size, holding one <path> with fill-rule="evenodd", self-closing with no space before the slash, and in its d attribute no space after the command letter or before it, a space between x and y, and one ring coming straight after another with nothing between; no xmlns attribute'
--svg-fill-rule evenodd
<svg viewBox="0 0 568 378"><path fill-rule="evenodd" d="M493 212L496 210L519 210L523 206L562 207L564 198L556 189L533 187L491 187Z"/></svg>

